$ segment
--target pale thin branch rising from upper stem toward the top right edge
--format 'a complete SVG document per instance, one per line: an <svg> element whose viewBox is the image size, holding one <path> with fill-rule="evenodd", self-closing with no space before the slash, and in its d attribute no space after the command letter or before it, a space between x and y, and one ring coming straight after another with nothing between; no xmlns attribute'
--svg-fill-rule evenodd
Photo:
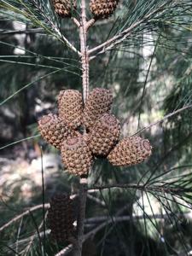
<svg viewBox="0 0 192 256"><path fill-rule="evenodd" d="M148 21L151 16L160 12L160 10L162 10L168 3L172 3L172 0L167 1L166 3L163 3L162 5L160 5L160 7L158 9L154 9L154 11L152 11L148 15L144 16L144 18L142 20L138 20L137 22L133 23L130 27L126 28L122 32L119 32L116 36L108 39L108 41L104 42L103 44L100 44L100 45L96 46L95 48L90 49L89 55L92 53L95 53L98 50L99 50L99 52L97 52L96 55L101 55L101 54L105 53L106 51L113 49L114 46L116 46L117 44L121 44L123 41L125 41L126 38L128 38L131 35L131 33L134 31L134 29L136 29L138 26L143 24L145 21ZM96 58L96 55L90 56L90 60L93 60L94 58Z"/></svg>

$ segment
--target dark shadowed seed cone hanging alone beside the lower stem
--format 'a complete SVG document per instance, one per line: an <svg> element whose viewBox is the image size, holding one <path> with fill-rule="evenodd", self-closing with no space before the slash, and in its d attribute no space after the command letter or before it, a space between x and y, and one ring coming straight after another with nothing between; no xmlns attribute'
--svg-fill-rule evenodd
<svg viewBox="0 0 192 256"><path fill-rule="evenodd" d="M50 235L56 241L68 241L73 236L73 201L69 195L59 194L52 197L47 216Z"/></svg>

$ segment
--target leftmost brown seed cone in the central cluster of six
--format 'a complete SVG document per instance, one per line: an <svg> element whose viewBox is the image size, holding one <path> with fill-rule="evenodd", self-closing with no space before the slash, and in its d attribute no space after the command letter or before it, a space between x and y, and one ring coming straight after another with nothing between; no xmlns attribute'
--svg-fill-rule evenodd
<svg viewBox="0 0 192 256"><path fill-rule="evenodd" d="M47 143L59 149L61 148L61 143L67 137L75 136L75 131L70 129L64 120L53 113L44 115L38 120L38 130Z"/></svg>

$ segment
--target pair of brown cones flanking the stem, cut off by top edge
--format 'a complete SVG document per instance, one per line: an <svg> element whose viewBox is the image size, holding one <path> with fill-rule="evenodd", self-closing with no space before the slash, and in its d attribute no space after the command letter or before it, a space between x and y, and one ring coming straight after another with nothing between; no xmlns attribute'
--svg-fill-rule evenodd
<svg viewBox="0 0 192 256"><path fill-rule="evenodd" d="M55 12L62 18L71 17L73 10L77 8L74 0L52 0L55 7ZM113 15L119 0L91 0L90 11L95 19L107 19Z"/></svg>

